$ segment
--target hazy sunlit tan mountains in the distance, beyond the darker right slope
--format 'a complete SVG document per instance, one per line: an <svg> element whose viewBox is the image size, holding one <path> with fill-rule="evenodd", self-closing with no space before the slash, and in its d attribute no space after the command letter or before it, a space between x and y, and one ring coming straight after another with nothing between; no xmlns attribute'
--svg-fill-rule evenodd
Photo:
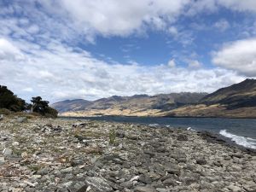
<svg viewBox="0 0 256 192"><path fill-rule="evenodd" d="M183 105L197 103L207 93L171 93L156 96L110 96L93 102L85 100L66 100L55 102L51 106L59 111L93 113L93 114L122 114L137 115L146 111L163 112Z"/></svg>

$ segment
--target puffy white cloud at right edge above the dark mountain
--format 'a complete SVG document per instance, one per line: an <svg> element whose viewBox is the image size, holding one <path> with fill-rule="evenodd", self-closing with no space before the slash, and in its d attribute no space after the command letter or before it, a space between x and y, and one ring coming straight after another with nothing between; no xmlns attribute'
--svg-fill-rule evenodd
<svg viewBox="0 0 256 192"><path fill-rule="evenodd" d="M212 62L241 74L256 77L256 38L225 44L213 53Z"/></svg>

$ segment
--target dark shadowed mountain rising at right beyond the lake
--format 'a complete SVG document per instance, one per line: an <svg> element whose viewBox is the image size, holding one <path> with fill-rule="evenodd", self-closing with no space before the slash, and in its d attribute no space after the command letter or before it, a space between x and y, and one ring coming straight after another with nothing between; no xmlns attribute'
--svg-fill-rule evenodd
<svg viewBox="0 0 256 192"><path fill-rule="evenodd" d="M246 79L204 96L197 105L164 113L179 117L256 118L256 80Z"/></svg>

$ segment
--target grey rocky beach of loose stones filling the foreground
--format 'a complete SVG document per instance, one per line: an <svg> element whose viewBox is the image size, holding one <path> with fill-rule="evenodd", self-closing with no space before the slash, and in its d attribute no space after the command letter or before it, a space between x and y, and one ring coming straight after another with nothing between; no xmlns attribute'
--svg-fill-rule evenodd
<svg viewBox="0 0 256 192"><path fill-rule="evenodd" d="M0 120L0 191L256 191L256 153L207 132L76 119Z"/></svg>

